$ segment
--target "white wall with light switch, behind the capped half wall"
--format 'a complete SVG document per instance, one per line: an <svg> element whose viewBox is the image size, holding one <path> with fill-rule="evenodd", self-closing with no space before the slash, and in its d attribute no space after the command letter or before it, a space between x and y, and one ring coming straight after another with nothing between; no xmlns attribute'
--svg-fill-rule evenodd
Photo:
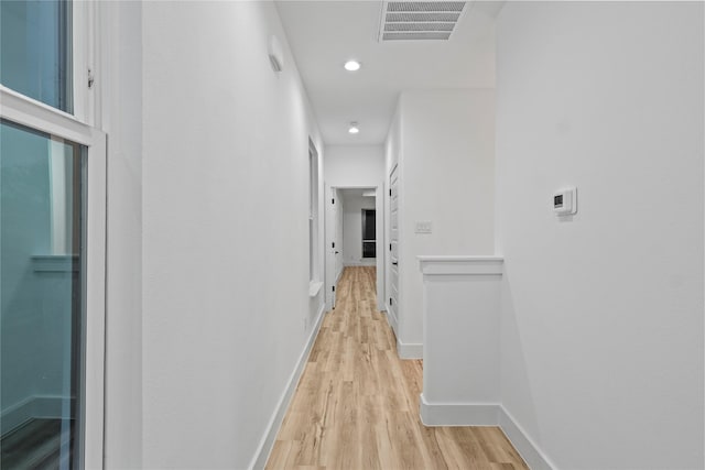
<svg viewBox="0 0 705 470"><path fill-rule="evenodd" d="M491 89L404 92L400 110L387 159L390 165L398 154L401 168L398 340L402 356L420 357L416 256L494 253L495 95ZM432 222L433 232L416 234L416 221Z"/></svg>

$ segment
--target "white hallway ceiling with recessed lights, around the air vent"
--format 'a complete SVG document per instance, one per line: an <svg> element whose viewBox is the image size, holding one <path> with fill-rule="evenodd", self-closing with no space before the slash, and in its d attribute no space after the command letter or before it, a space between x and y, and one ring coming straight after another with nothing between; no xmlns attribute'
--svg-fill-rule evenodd
<svg viewBox="0 0 705 470"><path fill-rule="evenodd" d="M495 86L502 1L469 2L449 41L390 42L378 42L382 0L275 4L327 145L383 143L402 90ZM343 68L350 58L360 70Z"/></svg>

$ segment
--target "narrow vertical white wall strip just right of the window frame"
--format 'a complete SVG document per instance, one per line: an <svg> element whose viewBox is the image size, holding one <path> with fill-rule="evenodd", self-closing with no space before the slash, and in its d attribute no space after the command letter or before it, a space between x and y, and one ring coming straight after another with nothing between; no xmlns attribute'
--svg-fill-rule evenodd
<svg viewBox="0 0 705 470"><path fill-rule="evenodd" d="M96 80L108 134L107 469L142 467L142 4L100 2Z"/></svg>

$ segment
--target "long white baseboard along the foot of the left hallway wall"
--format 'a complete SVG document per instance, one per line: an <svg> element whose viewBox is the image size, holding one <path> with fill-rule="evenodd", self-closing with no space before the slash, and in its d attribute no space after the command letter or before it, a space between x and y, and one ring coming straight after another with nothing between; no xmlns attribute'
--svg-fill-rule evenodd
<svg viewBox="0 0 705 470"><path fill-rule="evenodd" d="M286 383L286 387L284 389L284 393L282 394L279 403L276 404L276 408L274 409L274 414L267 426L267 430L264 431L264 436L260 440L260 445L254 452L254 457L250 462L249 469L263 469L267 466L267 460L269 459L270 453L272 452L272 448L274 447L274 440L276 439L276 433L282 426L282 422L284 420L284 415L286 414L286 409L289 408L289 404L291 398L294 396L294 392L296 391L296 386L299 385L299 380L304 371L304 367L306 365L306 361L308 360L308 354L311 353L311 349L318 336L318 331L321 330L321 324L323 323L323 317L325 314L325 304L321 306L321 310L316 317L316 323L314 328L311 330L311 335L308 336L308 340L306 341L306 346L304 350L301 352L299 357L299 361L296 362L296 367L294 368L291 376L289 378L289 382Z"/></svg>

